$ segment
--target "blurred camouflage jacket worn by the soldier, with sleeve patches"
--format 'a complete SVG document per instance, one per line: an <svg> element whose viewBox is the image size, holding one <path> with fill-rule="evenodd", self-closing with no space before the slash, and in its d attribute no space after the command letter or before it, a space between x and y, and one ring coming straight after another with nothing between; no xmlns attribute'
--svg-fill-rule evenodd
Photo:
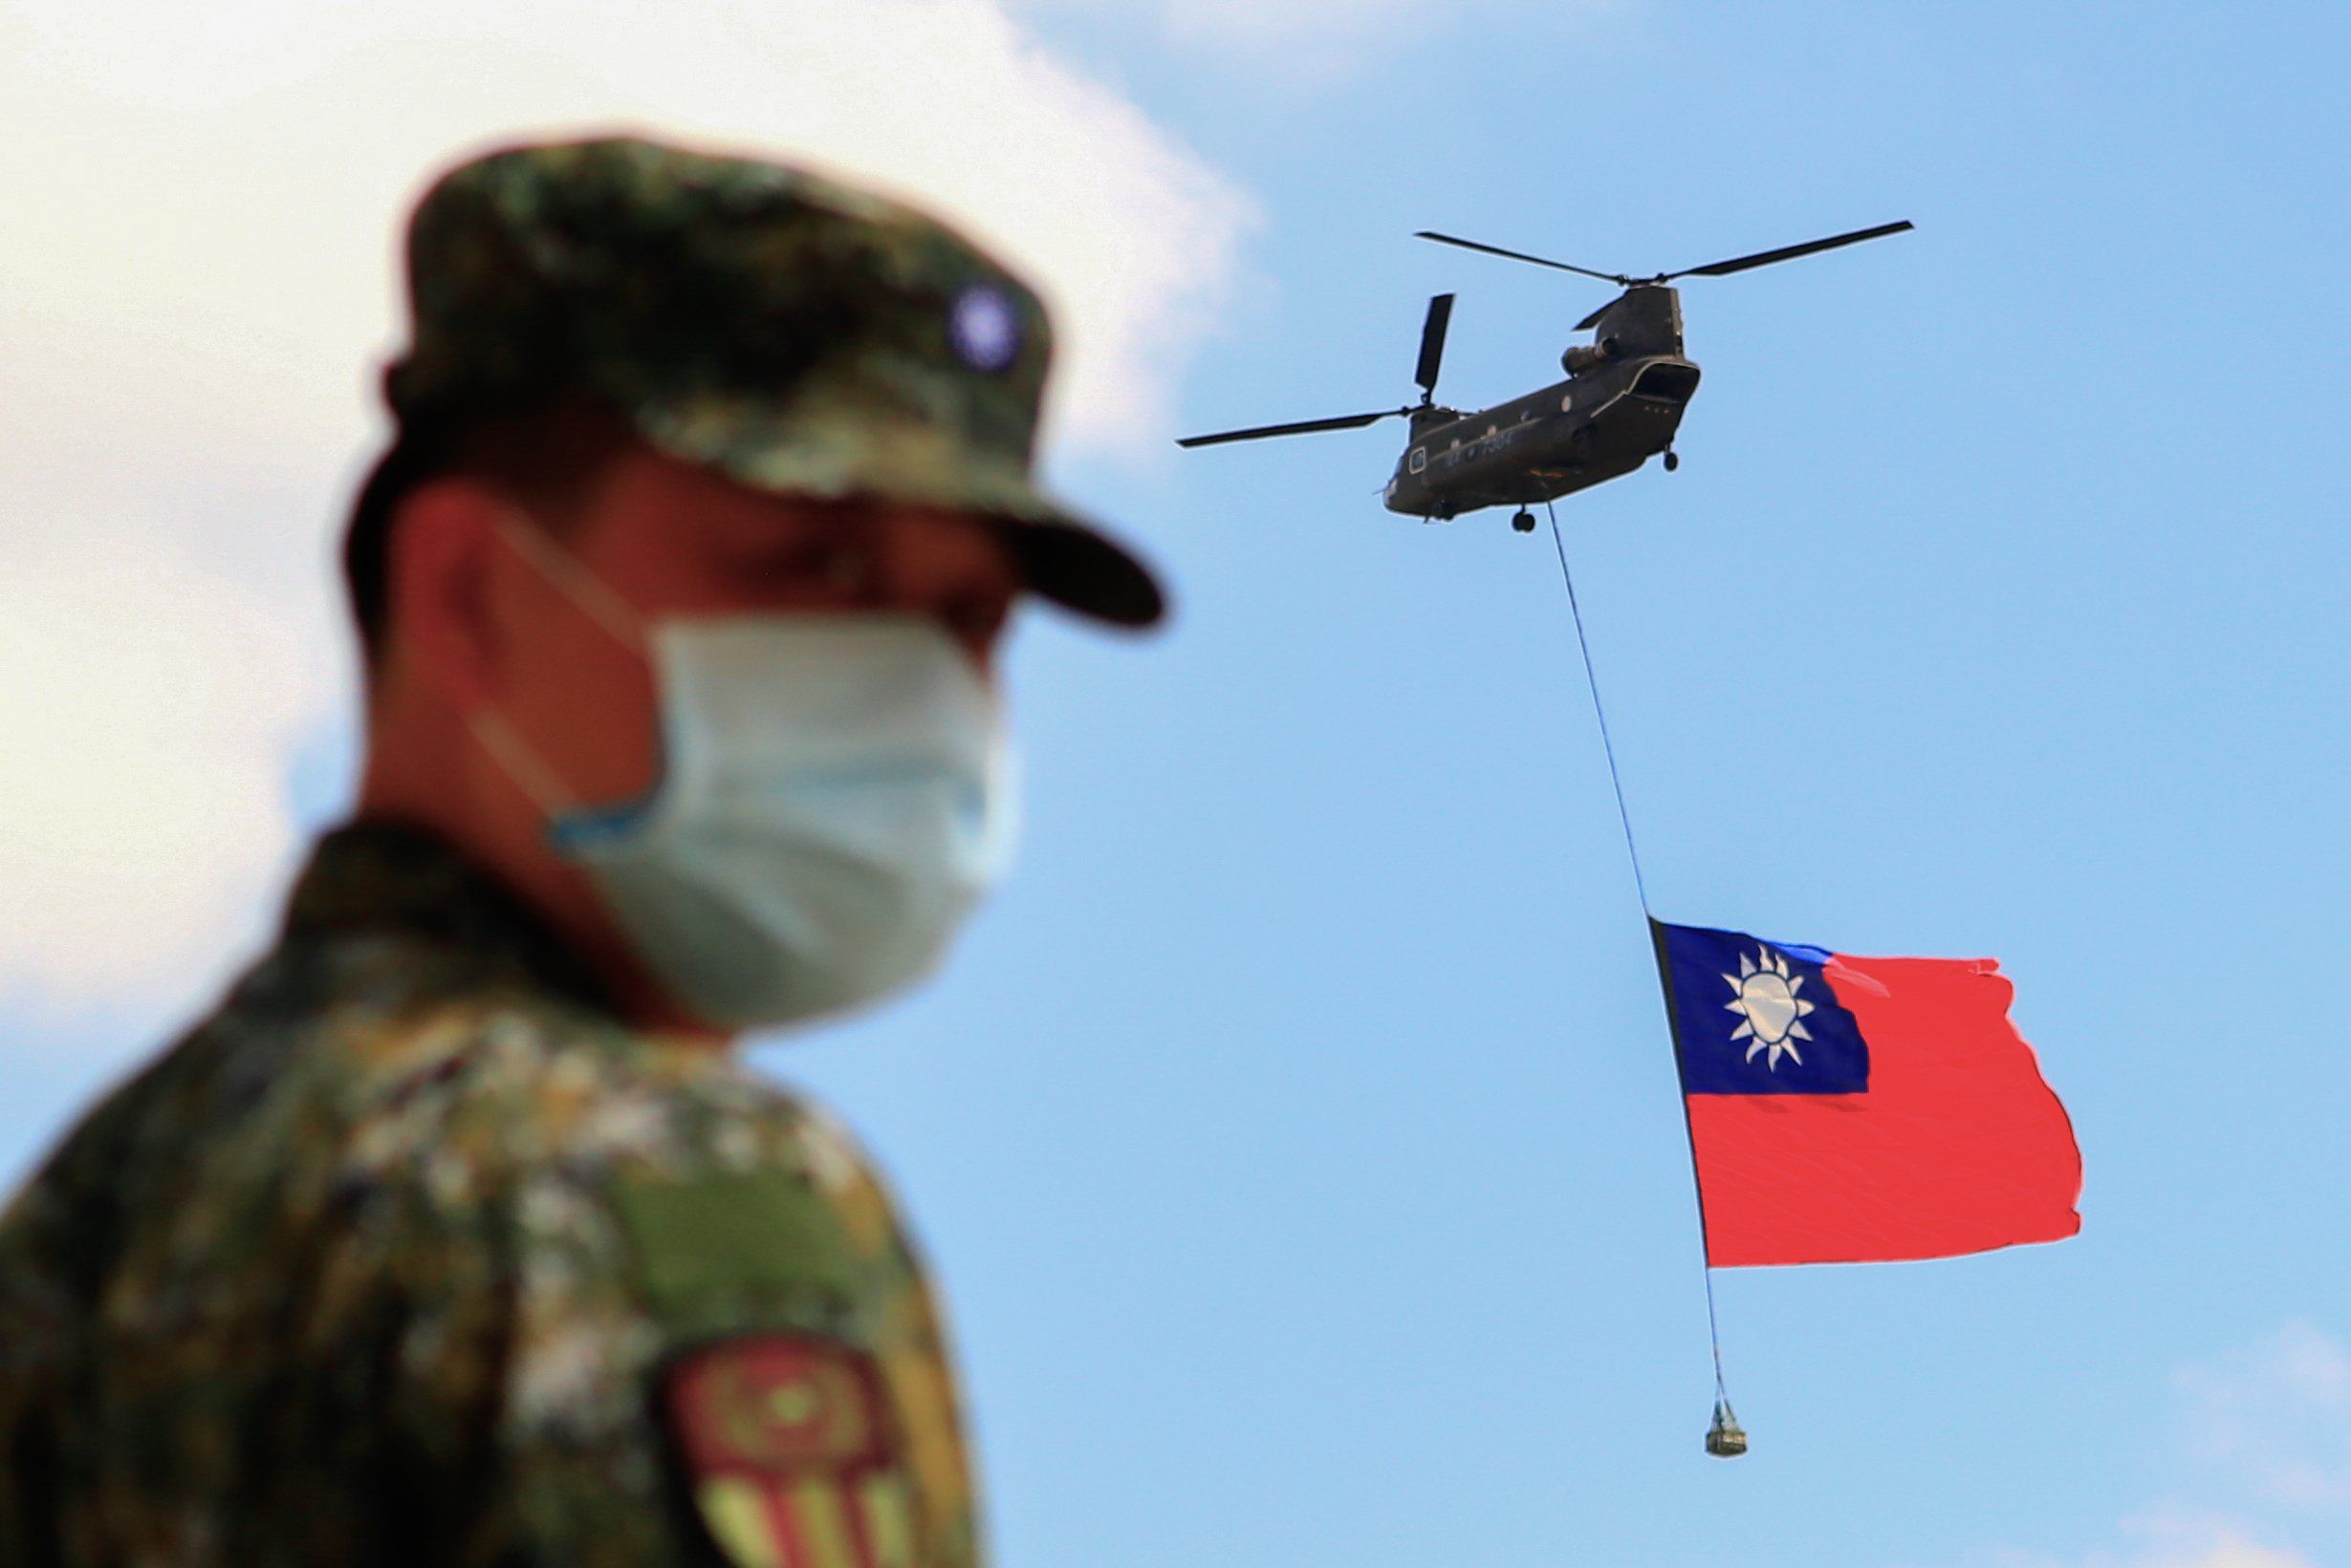
<svg viewBox="0 0 2351 1568"><path fill-rule="evenodd" d="M329 835L0 1218L0 1563L978 1556L856 1147L418 832Z"/></svg>

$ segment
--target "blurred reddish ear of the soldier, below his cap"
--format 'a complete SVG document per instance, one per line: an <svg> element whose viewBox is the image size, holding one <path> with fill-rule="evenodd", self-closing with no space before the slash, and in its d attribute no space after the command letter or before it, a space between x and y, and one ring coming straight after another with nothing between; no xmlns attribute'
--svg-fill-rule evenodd
<svg viewBox="0 0 2351 1568"><path fill-rule="evenodd" d="M456 712L498 691L503 654L491 576L508 503L465 477L426 480L393 515L386 625L393 656Z"/></svg>

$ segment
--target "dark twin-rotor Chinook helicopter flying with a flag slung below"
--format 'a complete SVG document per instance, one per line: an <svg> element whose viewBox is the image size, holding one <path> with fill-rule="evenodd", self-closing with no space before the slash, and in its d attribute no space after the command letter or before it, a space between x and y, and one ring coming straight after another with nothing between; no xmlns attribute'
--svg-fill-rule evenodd
<svg viewBox="0 0 2351 1568"><path fill-rule="evenodd" d="M1667 473L1681 468L1681 458L1674 454L1674 430L1681 428L1681 414L1690 407L1690 395L1697 393L1697 364L1681 353L1681 292L1669 287L1676 277L1726 277L1775 261L1831 252L1841 244L1897 235L1907 228L1911 228L1907 219L1878 223L1848 235L1784 244L1655 277L1594 273L1547 256L1420 230L1413 235L1415 240L1599 277L1625 292L1575 322L1575 331L1592 331L1592 343L1568 348L1559 357L1568 378L1540 393L1498 402L1476 414L1439 404L1436 369L1446 353L1446 324L1453 320L1453 296L1439 294L1429 301L1429 313L1420 324L1420 364L1413 371L1413 381L1420 383L1420 402L1375 414L1187 435L1176 444L1215 447L1270 435L1359 430L1382 418L1406 418L1411 421L1411 442L1396 458L1396 473L1380 491L1387 510L1425 522L1448 522L1488 505L1516 505L1519 512L1509 522L1521 534L1531 534L1535 515L1528 508L1538 501L1556 501L1570 491L1615 480L1657 454L1665 456Z"/></svg>

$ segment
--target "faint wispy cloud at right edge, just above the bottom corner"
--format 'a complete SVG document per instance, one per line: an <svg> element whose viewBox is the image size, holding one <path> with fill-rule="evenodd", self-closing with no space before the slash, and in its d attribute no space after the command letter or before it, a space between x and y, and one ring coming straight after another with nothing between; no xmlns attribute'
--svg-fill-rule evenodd
<svg viewBox="0 0 2351 1568"><path fill-rule="evenodd" d="M2313 1328L2179 1373L2203 1458L2292 1507L2351 1502L2351 1354Z"/></svg>

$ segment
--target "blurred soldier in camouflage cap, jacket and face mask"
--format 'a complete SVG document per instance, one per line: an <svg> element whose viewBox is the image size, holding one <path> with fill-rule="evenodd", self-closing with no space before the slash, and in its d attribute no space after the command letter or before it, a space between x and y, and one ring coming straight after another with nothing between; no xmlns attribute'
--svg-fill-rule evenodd
<svg viewBox="0 0 2351 1568"><path fill-rule="evenodd" d="M976 1563L922 1265L729 1041L987 886L1020 592L1161 614L1030 477L1044 313L637 139L449 172L409 292L360 809L0 1220L0 1563Z"/></svg>

